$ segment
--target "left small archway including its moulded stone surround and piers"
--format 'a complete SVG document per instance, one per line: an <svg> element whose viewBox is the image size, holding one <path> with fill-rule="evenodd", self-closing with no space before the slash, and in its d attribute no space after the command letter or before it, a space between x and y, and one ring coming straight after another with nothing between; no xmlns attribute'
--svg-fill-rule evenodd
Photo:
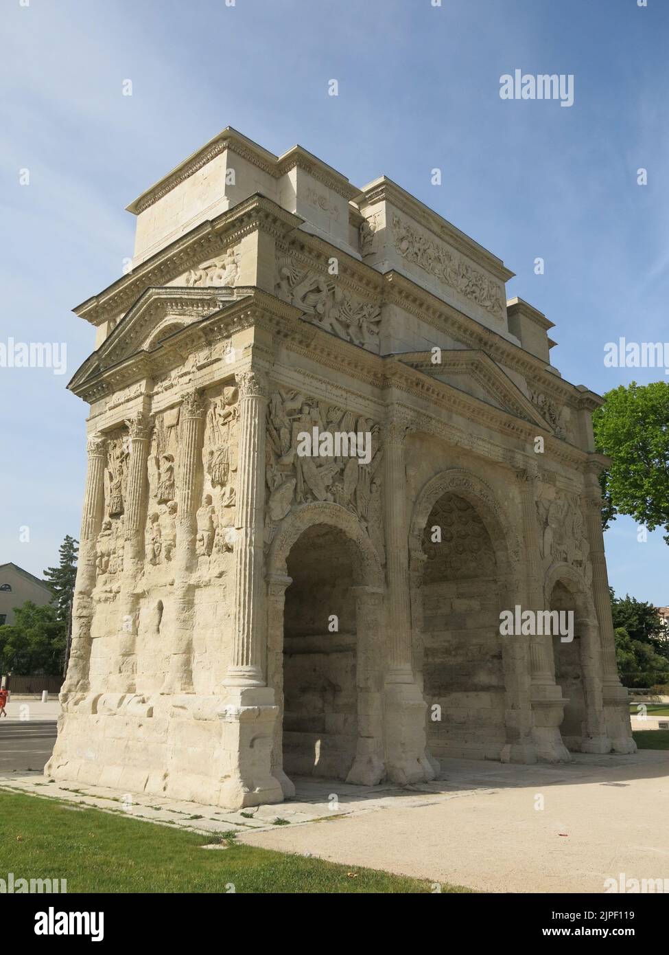
<svg viewBox="0 0 669 955"><path fill-rule="evenodd" d="M285 746L293 773L374 785L385 775L376 551L344 507L302 504L277 530L266 582L267 682L280 707L272 774L285 796L294 794Z"/></svg>

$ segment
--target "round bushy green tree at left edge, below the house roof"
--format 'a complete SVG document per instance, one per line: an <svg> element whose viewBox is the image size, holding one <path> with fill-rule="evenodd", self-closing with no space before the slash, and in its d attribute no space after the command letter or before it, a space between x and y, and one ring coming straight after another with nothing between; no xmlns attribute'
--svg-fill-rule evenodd
<svg viewBox="0 0 669 955"><path fill-rule="evenodd" d="M55 606L26 601L14 607L14 623L0 626L3 673L58 673L63 667L67 622Z"/></svg>

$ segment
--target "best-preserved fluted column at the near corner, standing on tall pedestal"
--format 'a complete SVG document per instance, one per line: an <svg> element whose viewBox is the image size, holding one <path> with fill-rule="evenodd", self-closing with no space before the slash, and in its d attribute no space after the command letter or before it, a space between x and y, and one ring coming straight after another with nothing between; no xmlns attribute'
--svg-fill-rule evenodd
<svg viewBox="0 0 669 955"><path fill-rule="evenodd" d="M267 386L257 371L238 375L240 453L235 511L235 610L228 687L262 687L264 595L262 536Z"/></svg>

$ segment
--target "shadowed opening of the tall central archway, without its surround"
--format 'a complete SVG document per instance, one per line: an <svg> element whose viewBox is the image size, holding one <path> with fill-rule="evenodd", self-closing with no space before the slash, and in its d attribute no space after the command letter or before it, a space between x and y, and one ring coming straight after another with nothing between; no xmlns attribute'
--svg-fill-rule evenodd
<svg viewBox="0 0 669 955"><path fill-rule="evenodd" d="M468 499L447 492L430 511L423 551L429 750L435 756L499 759L506 740L505 683L500 567L491 535Z"/></svg>

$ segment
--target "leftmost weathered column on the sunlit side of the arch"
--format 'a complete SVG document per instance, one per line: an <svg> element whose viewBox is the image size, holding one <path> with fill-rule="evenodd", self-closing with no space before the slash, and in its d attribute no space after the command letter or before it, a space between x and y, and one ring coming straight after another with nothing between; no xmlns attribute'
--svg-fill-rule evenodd
<svg viewBox="0 0 669 955"><path fill-rule="evenodd" d="M61 696L72 692L87 692L90 689L91 624L94 612L91 595L95 586L95 541L100 532L104 511L106 439L102 435L93 435L88 440L87 451L88 470L72 609L72 644Z"/></svg>

